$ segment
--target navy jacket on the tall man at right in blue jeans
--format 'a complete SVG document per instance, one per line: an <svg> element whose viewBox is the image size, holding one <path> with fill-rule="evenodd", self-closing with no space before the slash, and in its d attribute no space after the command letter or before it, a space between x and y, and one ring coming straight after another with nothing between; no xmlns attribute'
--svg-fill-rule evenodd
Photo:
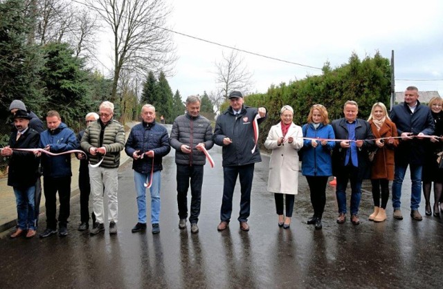
<svg viewBox="0 0 443 289"><path fill-rule="evenodd" d="M417 100L417 107L414 113L410 111L408 104L401 102L392 107L389 115L392 122L397 126L399 136L403 132L424 133L431 136L434 133L434 119L431 109L420 104ZM424 163L424 140L413 138L412 140L401 140L395 149L395 163L398 165L423 165Z"/></svg>

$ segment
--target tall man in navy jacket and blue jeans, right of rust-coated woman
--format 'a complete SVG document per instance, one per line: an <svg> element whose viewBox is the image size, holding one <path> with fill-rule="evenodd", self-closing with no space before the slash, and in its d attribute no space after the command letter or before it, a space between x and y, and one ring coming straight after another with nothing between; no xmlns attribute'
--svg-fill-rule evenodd
<svg viewBox="0 0 443 289"><path fill-rule="evenodd" d="M408 86L404 92L404 102L392 107L390 119L397 126L401 141L395 150L395 173L392 183L392 207L394 218L402 220L400 210L401 185L409 165L410 180L410 216L422 221L418 212L422 197L422 167L424 161L424 143L422 136L434 133L434 120L431 109L418 101L418 88ZM416 136L416 137L413 137Z"/></svg>

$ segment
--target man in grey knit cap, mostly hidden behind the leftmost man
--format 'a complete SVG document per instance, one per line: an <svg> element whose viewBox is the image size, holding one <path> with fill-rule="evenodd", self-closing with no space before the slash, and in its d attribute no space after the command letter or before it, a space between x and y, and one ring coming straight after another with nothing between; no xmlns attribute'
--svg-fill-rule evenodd
<svg viewBox="0 0 443 289"><path fill-rule="evenodd" d="M12 100L9 111L12 113L12 115L15 115L15 113L19 110L26 111L28 113L28 117L30 118L28 127L31 129L34 129L37 131L37 133L42 133L44 131L44 124L42 120L40 120L33 111L27 111L25 104L21 100ZM12 131L15 132L15 127L12 129ZM40 212L40 198L42 198L42 180L40 179L40 176L42 176L42 169L39 167L38 169L38 177L35 181L35 225L38 226L39 222L39 212Z"/></svg>

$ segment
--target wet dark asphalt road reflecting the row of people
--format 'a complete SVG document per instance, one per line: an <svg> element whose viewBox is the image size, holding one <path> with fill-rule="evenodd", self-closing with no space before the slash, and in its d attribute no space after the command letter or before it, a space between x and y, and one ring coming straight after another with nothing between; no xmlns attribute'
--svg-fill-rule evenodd
<svg viewBox="0 0 443 289"><path fill-rule="evenodd" d="M163 159L160 234L152 235L149 225L146 232L131 232L137 207L128 162L118 175L117 235L109 236L108 224L105 234L78 232L77 195L71 200L66 238L0 239L0 288L440 288L442 221L428 216L411 220L408 182L401 205L404 220L392 218L389 201L383 223L367 221L373 207L370 183L365 183L358 226L349 215L343 225L335 222L335 191L328 185L323 230L316 231L306 224L312 209L300 174L293 220L284 230L277 226L273 195L266 192L269 158L263 156L255 166L251 230L239 230L237 184L230 226L217 232L221 149L210 153L216 165L205 167L198 234L190 233L189 223L186 230L178 227L172 150ZM44 218L40 224L42 232Z"/></svg>

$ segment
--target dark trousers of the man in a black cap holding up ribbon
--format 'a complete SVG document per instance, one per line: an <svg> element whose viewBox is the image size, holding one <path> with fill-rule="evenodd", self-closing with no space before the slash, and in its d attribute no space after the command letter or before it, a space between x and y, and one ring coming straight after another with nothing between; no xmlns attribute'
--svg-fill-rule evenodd
<svg viewBox="0 0 443 289"><path fill-rule="evenodd" d="M240 178L240 214L239 222L248 221L251 212L251 188L254 176L254 164L235 167L223 167L223 199L221 201L220 220L230 221L233 212L233 194L237 176Z"/></svg>

